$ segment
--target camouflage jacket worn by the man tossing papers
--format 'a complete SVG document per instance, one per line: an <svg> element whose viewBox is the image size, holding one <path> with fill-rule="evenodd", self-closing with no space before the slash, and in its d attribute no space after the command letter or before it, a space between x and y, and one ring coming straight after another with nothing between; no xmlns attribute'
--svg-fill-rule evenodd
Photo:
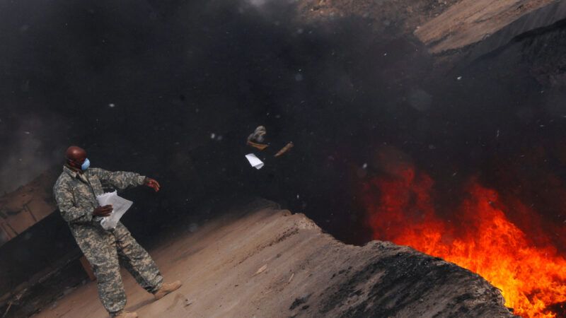
<svg viewBox="0 0 566 318"><path fill-rule="evenodd" d="M53 195L64 220L69 223L73 235L83 228L102 228L93 216L98 207L96 196L103 194L103 183L116 189L126 189L144 184L146 177L135 172L110 172L89 168L82 174L63 166L63 172L55 182Z"/></svg>

